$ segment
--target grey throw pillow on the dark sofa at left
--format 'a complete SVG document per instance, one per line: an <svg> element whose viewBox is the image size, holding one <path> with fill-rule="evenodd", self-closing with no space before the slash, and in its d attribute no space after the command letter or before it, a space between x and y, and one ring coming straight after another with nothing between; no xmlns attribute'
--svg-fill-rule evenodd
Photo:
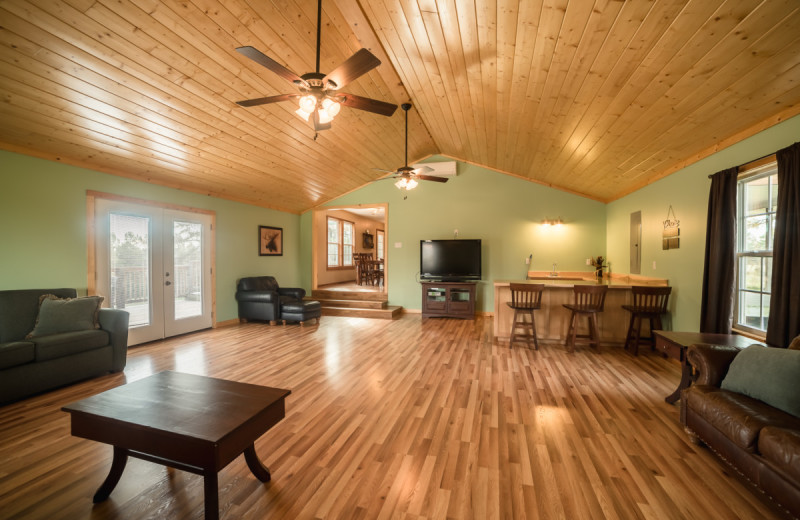
<svg viewBox="0 0 800 520"><path fill-rule="evenodd" d="M36 324L25 339L61 332L99 329L102 303L102 296L62 299L52 294L43 294L39 297L39 315L36 317Z"/></svg>

